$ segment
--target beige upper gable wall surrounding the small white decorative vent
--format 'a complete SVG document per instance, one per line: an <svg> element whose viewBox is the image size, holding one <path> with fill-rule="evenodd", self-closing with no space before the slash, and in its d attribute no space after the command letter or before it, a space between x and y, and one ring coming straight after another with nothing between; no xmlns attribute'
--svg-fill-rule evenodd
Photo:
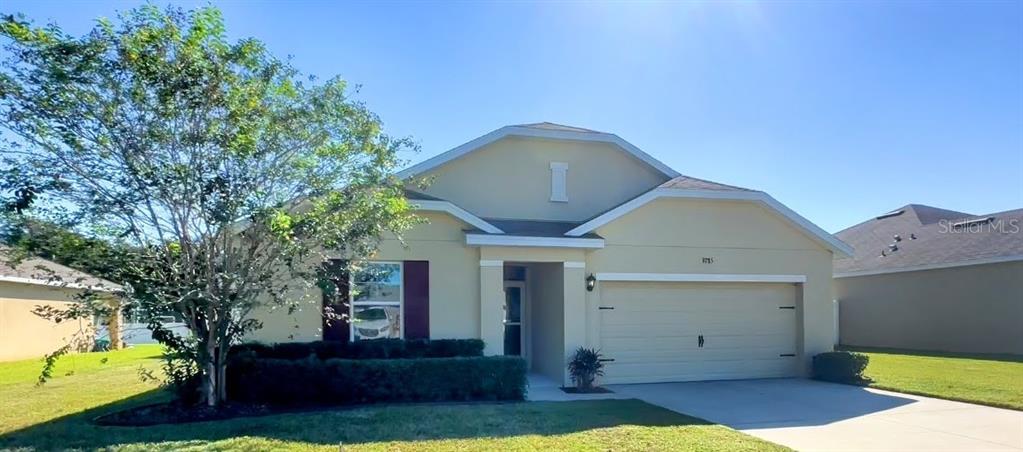
<svg viewBox="0 0 1023 452"><path fill-rule="evenodd" d="M568 202L550 201L550 163L569 165ZM507 137L424 174L425 191L483 218L581 221L668 178L607 143Z"/></svg>

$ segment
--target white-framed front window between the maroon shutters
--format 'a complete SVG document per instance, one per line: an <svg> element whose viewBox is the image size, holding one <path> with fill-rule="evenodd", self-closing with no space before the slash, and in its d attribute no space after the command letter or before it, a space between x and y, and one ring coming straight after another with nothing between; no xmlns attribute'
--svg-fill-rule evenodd
<svg viewBox="0 0 1023 452"><path fill-rule="evenodd" d="M401 264L370 262L352 271L352 341L400 338Z"/></svg>

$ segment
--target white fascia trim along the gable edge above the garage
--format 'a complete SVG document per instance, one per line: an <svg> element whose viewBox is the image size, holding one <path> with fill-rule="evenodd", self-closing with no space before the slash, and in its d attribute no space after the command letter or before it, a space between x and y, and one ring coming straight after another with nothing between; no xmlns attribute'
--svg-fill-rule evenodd
<svg viewBox="0 0 1023 452"><path fill-rule="evenodd" d="M776 199L763 191L719 184L717 182L687 176L679 176L676 179L665 182L653 190L640 194L629 201L619 205L618 207L615 207L586 221L578 227L566 232L565 235L579 236L592 232L596 228L611 223L629 212L639 209L647 204L662 197L752 201L766 208L768 211L774 212L796 229L799 229L810 238L831 250L836 256L852 255L851 246L842 242L842 240L839 240L834 235L829 234L824 229L820 229L819 226L803 218L795 211L789 209L782 202L779 202Z"/></svg>

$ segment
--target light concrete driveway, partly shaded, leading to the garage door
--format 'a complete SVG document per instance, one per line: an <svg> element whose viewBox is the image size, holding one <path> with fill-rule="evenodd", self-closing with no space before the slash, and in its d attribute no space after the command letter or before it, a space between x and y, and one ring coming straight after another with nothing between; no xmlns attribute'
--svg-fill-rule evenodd
<svg viewBox="0 0 1023 452"><path fill-rule="evenodd" d="M1023 450L1023 412L807 379L615 385L797 450Z"/></svg>

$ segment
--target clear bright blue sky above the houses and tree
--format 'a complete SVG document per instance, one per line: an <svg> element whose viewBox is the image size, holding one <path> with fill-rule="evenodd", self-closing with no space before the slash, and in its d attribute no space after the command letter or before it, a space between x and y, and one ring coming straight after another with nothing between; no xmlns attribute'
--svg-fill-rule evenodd
<svg viewBox="0 0 1023 452"><path fill-rule="evenodd" d="M136 4L0 12L80 34ZM1023 1L214 4L232 36L361 85L389 133L422 145L412 162L550 121L832 232L909 202L1023 208Z"/></svg>

